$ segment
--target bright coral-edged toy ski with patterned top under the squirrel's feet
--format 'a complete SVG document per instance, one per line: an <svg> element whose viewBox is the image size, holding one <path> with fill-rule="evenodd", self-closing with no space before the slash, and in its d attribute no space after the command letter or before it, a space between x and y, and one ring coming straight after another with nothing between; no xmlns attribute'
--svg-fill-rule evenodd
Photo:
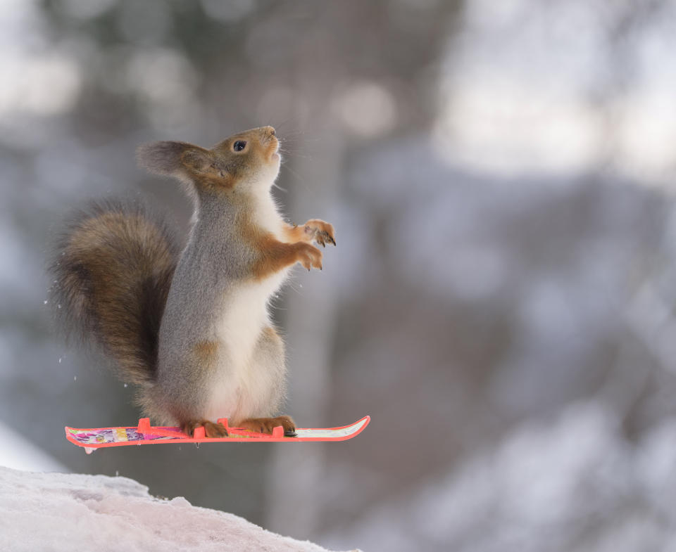
<svg viewBox="0 0 676 552"><path fill-rule="evenodd" d="M206 437L204 428L196 428L193 437L183 433L180 428L150 425L149 418L139 419L139 425L126 428L65 428L65 438L78 447L84 447L87 454L103 447L124 447L130 444L167 444L167 443L221 443L221 442L289 442L308 441L345 441L361 433L370 422L369 416L340 428L296 428L296 437L284 437L280 425L272 435L256 433L242 428L228 428L227 418L218 421L228 428L227 437Z"/></svg>

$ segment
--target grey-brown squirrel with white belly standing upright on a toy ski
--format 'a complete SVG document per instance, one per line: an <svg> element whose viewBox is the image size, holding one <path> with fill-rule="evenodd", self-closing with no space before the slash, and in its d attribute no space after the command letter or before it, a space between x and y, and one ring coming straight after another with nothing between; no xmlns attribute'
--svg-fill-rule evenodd
<svg viewBox="0 0 676 552"><path fill-rule="evenodd" d="M280 171L273 127L211 149L176 141L137 148L139 165L184 184L194 203L182 252L163 217L142 203L94 201L54 245L51 303L59 326L98 345L137 403L161 425L207 437L232 427L272 433L289 416L284 342L268 301L291 267L322 268L313 243L335 245L320 219L282 219L270 190Z"/></svg>

